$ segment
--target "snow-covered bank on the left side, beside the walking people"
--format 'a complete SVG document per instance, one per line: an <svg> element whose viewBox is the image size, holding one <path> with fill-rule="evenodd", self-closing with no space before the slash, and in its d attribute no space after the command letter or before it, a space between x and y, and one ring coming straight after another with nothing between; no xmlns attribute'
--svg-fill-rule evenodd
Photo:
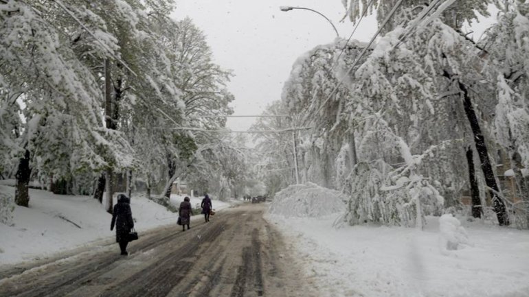
<svg viewBox="0 0 529 297"><path fill-rule="evenodd" d="M13 197L14 187L0 185L0 192ZM177 206L182 201L182 196L171 195L171 202ZM200 202L201 198L191 200L193 206ZM212 203L216 210L229 206L218 200ZM133 194L131 209L140 237L142 232L157 226L175 224L179 227L177 213L144 197ZM110 230L111 218L104 206L91 196L55 195L30 189L30 207L16 206L14 226L0 223L0 265L41 259L91 241L112 241L115 230Z"/></svg>

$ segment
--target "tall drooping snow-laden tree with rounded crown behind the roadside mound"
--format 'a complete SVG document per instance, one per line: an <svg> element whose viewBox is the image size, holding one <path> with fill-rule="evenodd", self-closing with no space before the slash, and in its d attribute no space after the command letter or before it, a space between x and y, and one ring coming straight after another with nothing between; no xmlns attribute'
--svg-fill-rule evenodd
<svg viewBox="0 0 529 297"><path fill-rule="evenodd" d="M344 84L339 82L365 45L345 40L321 45L301 56L293 64L291 77L284 85L282 102L292 115L293 126L311 126L300 132L300 163L304 180L321 182L337 188L336 174L350 171L356 162L354 128L341 121L350 99ZM358 61L357 61L358 64ZM344 150L342 150L344 147ZM341 154L341 165L335 159Z"/></svg>

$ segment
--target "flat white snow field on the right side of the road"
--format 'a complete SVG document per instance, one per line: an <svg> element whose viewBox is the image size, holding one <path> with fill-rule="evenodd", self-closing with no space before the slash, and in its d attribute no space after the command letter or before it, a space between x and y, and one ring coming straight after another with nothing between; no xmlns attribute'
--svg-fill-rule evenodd
<svg viewBox="0 0 529 297"><path fill-rule="evenodd" d="M333 228L339 215L267 215L299 253L322 296L527 297L529 232L480 220L427 217L424 230L385 226ZM468 237L468 243L463 243ZM458 250L446 247L460 237Z"/></svg>

